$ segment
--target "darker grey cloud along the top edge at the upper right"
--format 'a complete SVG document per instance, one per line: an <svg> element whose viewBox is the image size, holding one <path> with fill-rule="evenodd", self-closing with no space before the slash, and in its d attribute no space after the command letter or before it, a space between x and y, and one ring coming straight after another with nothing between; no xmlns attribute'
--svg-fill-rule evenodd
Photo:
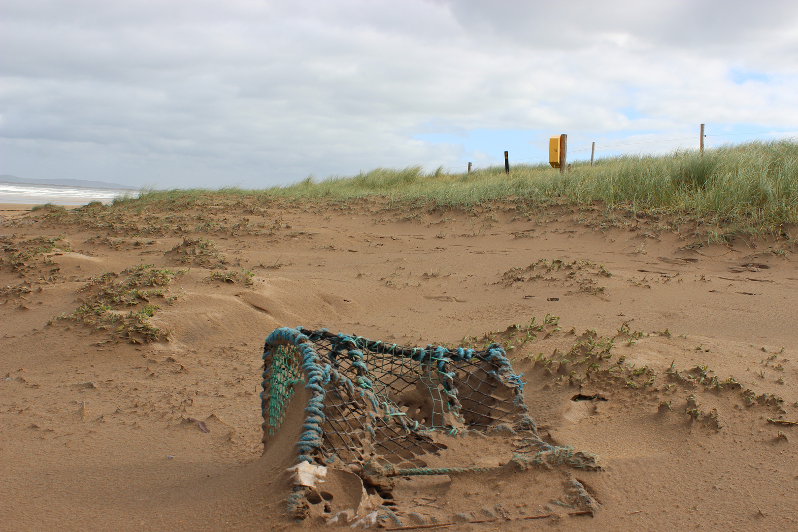
<svg viewBox="0 0 798 532"><path fill-rule="evenodd" d="M798 21L798 5L781 0L455 0L440 5L464 27L554 49L628 35L639 45L729 50L794 29Z"/></svg>

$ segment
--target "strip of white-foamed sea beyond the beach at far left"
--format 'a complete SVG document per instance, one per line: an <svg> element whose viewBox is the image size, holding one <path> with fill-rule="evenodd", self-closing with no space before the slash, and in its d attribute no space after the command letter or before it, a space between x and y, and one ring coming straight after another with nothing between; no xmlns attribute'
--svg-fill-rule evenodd
<svg viewBox="0 0 798 532"><path fill-rule="evenodd" d="M138 191L130 189L65 187L30 183L0 183L0 203L56 203L58 205L85 205L90 201L111 203L124 195L136 197Z"/></svg>

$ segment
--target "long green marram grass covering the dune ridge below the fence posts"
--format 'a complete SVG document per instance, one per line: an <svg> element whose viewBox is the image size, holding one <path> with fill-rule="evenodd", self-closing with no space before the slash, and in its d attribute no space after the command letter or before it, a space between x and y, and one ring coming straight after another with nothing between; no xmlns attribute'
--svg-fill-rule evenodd
<svg viewBox="0 0 798 532"><path fill-rule="evenodd" d="M798 140L753 141L664 156L607 157L591 167L576 162L560 174L547 164L488 167L472 174L375 168L350 177L307 178L264 190L145 190L120 198L115 206L142 207L165 201L188 205L209 196L231 199L388 199L393 205L470 208L486 203L587 205L597 200L610 209L687 216L727 229L770 231L798 224Z"/></svg>

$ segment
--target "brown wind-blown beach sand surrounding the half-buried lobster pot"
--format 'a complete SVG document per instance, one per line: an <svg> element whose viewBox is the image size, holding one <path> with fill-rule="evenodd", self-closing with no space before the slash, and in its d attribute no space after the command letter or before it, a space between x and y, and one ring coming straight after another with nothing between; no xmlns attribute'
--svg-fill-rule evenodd
<svg viewBox="0 0 798 532"><path fill-rule="evenodd" d="M169 212L126 214L111 227L17 208L0 206L4 257L26 239L62 240L27 266L0 269L3 530L323 526L284 514L301 411L262 456L261 354L272 329L457 345L547 313L561 330L508 356L524 373L541 435L601 457L606 471L578 477L600 509L567 515L552 502L562 475L541 468L425 481L397 497L403 525L413 525L412 511L439 523L456 514L497 519L448 530L798 530L798 426L768 421L798 422L792 250L742 238L693 246L686 229L557 207L527 217L220 201L180 213L202 215L201 233L196 221L160 222ZM196 246L180 247L184 236L210 239L218 254L186 254ZM593 264L535 278L527 266L539 259ZM172 329L171 341L117 343L113 329L48 325L85 301L89 278L141 263L190 266L168 286L180 296L172 305L152 301L160 305L152 323ZM222 263L251 270L252 285L207 279ZM616 337L612 363L626 357L653 372L579 385L567 365L532 358L567 353L590 329ZM669 379L672 364L705 365L740 385ZM654 381L645 385L647 376ZM579 394L598 398L571 400ZM506 459L499 439L453 440L466 443L452 460ZM537 514L551 517L518 519Z"/></svg>

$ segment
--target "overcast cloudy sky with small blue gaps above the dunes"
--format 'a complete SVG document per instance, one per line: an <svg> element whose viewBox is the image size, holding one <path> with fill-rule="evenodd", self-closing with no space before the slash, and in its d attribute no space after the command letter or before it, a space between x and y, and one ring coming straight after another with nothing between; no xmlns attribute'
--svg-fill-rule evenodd
<svg viewBox="0 0 798 532"><path fill-rule="evenodd" d="M798 2L0 0L0 173L263 187L798 130ZM778 135L759 135L771 138ZM632 144L654 140L667 143ZM602 148L603 146L609 148ZM585 151L577 151L588 148Z"/></svg>

